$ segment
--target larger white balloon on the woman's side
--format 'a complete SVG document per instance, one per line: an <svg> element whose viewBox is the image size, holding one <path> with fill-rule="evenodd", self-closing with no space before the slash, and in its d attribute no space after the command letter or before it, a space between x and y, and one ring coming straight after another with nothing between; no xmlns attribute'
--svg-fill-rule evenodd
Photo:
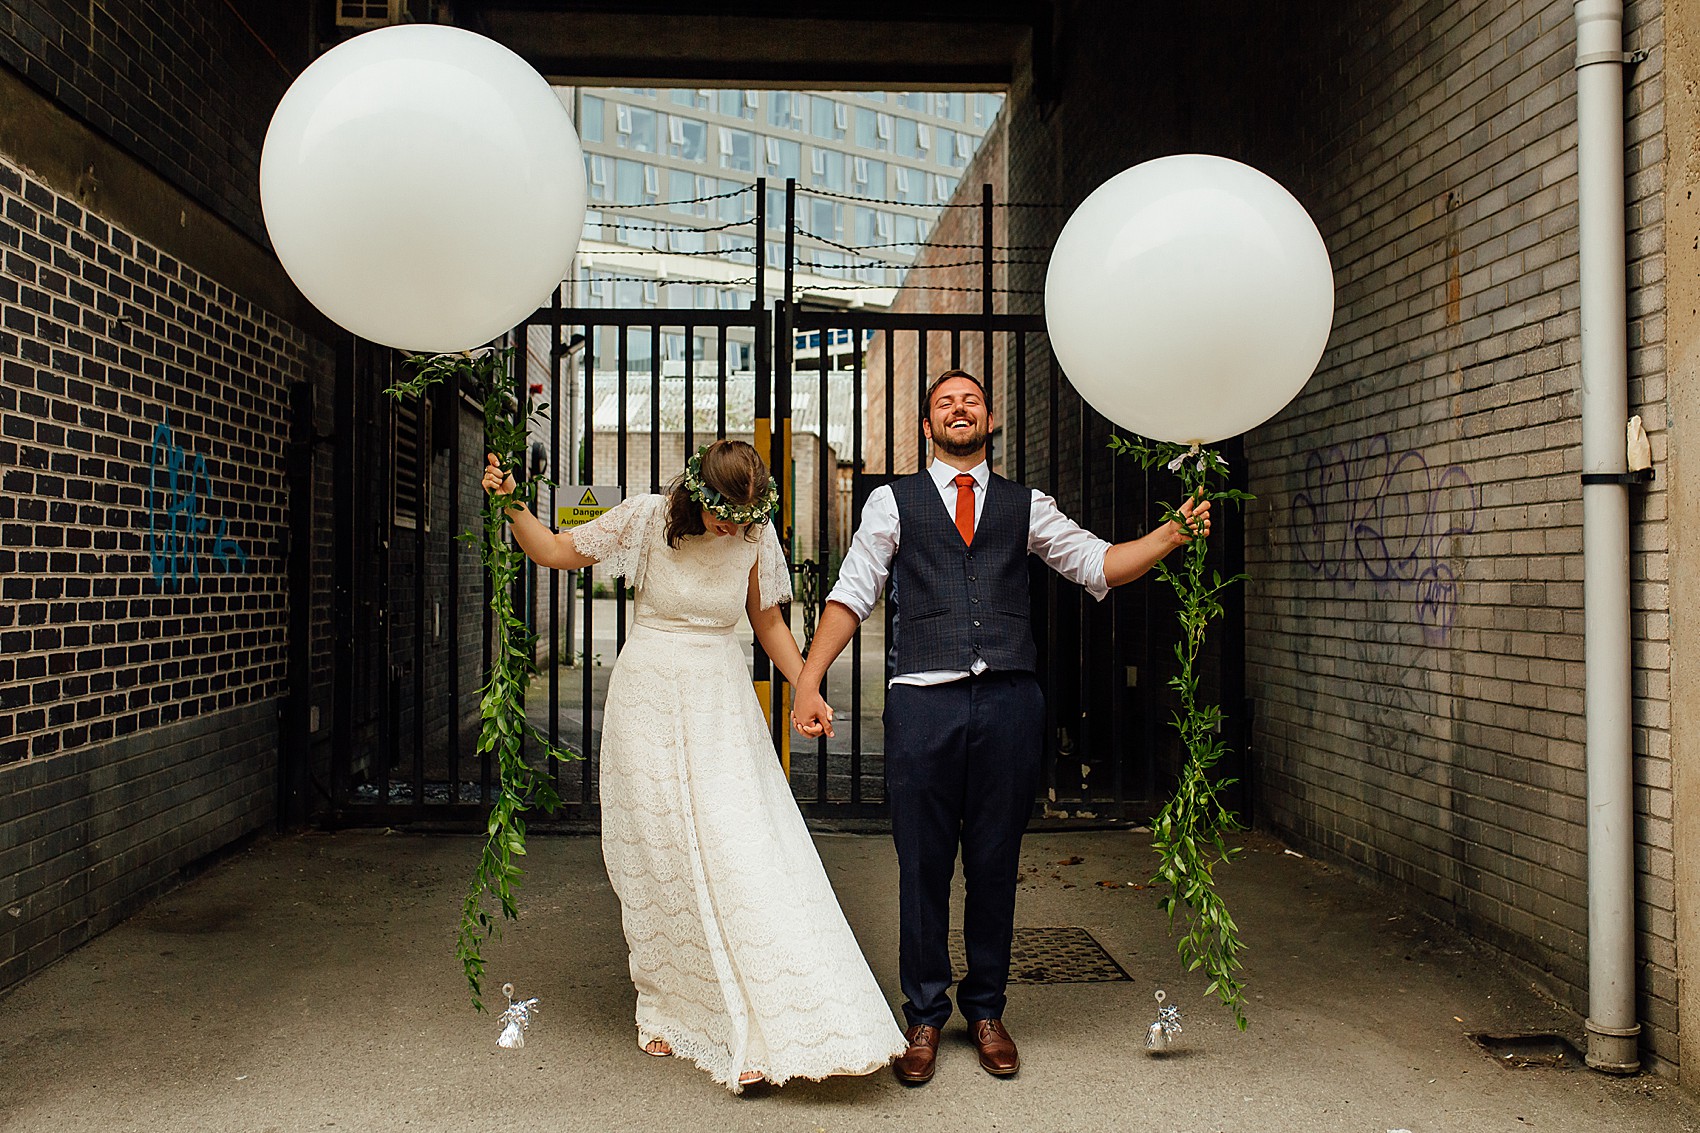
<svg viewBox="0 0 1700 1133"><path fill-rule="evenodd" d="M408 24L301 71L265 131L260 208L284 270L332 320L406 350L464 350L566 276L585 163L566 107L520 56Z"/></svg>

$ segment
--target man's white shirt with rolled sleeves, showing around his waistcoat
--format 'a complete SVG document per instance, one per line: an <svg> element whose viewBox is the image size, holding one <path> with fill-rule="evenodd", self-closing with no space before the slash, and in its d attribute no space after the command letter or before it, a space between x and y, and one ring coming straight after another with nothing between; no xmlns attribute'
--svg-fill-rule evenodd
<svg viewBox="0 0 1700 1133"><path fill-rule="evenodd" d="M952 481L957 470L944 461L933 461L926 471L938 485L938 502L955 522L957 487ZM974 527L978 529L979 515L986 509L986 483L991 480L991 470L981 461L967 473L974 476ZM838 566L838 585L826 595L826 601L845 606L857 616L857 621L865 621L886 589L886 578L891 577L891 560L898 553L899 536L898 497L892 495L889 485L881 485L869 493L867 504L862 505L862 524L850 541L850 551ZM1057 509L1057 502L1037 488L1028 510L1027 549L1051 570L1083 585L1091 597L1103 601L1103 595L1110 592L1110 584L1103 577L1103 556L1110 544L1064 515ZM984 672L984 667L986 663L979 662L974 672ZM944 684L967 675L966 670L933 669L898 674L891 682Z"/></svg>

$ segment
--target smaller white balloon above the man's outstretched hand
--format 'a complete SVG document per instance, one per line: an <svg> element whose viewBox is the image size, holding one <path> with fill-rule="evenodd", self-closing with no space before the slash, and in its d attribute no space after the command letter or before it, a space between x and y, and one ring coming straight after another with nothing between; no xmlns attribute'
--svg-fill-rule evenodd
<svg viewBox="0 0 1700 1133"><path fill-rule="evenodd" d="M1086 197L1046 274L1051 345L1080 395L1154 441L1221 441L1282 410L1323 357L1334 276L1292 194L1185 153Z"/></svg>

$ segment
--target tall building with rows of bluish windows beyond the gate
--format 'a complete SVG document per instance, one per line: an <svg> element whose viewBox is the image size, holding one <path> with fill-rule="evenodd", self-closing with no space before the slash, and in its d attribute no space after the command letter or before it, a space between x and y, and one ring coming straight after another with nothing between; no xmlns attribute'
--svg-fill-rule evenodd
<svg viewBox="0 0 1700 1133"><path fill-rule="evenodd" d="M768 269L767 299L780 296L787 179L797 182L796 294L889 305L1003 104L1001 94L960 90L614 87L563 97L590 189L573 303L624 310L748 310L756 255ZM767 179L763 231L758 179ZM729 369L748 369L753 344L731 339ZM663 335L663 362L682 367L683 345L682 333ZM614 364L607 337L595 349L598 369ZM629 364L648 367L649 349L634 337Z"/></svg>

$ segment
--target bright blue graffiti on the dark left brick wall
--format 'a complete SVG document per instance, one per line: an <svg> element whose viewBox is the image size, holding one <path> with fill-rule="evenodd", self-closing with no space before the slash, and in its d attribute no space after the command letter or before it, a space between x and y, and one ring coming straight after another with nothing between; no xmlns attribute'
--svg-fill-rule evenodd
<svg viewBox="0 0 1700 1133"><path fill-rule="evenodd" d="M148 444L148 560L162 587L182 589L185 573L201 578L202 558L211 558L223 573L246 570L248 556L228 536L230 521L219 519L214 529L202 514L211 498L206 458L190 458L172 439L167 415Z"/></svg>

